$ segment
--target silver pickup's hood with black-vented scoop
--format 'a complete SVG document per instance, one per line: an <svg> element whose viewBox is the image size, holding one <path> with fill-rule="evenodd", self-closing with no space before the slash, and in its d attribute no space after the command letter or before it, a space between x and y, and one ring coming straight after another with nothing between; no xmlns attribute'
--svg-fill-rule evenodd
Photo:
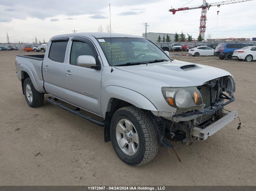
<svg viewBox="0 0 256 191"><path fill-rule="evenodd" d="M220 68L178 60L173 60L171 63L160 62L148 65L118 66L116 68L162 81L170 87L200 86L212 79L231 75Z"/></svg>

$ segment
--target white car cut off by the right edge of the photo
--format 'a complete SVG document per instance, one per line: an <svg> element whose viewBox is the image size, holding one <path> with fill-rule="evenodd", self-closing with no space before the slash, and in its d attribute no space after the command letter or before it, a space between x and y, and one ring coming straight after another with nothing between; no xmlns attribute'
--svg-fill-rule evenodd
<svg viewBox="0 0 256 191"><path fill-rule="evenodd" d="M246 46L244 48L234 50L232 58L251 62L256 60L256 46Z"/></svg>

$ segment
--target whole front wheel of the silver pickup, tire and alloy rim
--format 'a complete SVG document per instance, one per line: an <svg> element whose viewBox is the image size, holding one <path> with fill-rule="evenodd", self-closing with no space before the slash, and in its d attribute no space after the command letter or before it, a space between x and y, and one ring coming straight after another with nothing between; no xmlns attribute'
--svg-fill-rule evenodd
<svg viewBox="0 0 256 191"><path fill-rule="evenodd" d="M113 148L126 164L146 164L157 154L159 135L147 111L135 106L123 107L113 115L110 128Z"/></svg>

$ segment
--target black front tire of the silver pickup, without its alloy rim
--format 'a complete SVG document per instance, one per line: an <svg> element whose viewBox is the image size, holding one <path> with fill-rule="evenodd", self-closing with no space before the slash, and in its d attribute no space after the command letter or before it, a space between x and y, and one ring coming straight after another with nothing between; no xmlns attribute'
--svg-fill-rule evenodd
<svg viewBox="0 0 256 191"><path fill-rule="evenodd" d="M118 145L116 126L121 119L128 119L136 127L139 146L134 155L125 154ZM114 113L110 123L110 137L118 157L132 166L148 163L155 157L159 148L159 135L153 119L147 111L135 106L122 107Z"/></svg>

